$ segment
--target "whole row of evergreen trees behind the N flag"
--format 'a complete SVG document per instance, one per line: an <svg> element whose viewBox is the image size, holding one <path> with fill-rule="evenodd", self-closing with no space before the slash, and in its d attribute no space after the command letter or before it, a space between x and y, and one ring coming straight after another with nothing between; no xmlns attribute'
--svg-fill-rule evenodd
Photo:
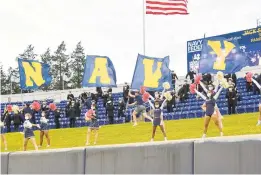
<svg viewBox="0 0 261 175"><path fill-rule="evenodd" d="M81 87L85 65L85 53L81 42L76 45L76 48L70 55L66 54L66 44L64 41L53 53L50 48L47 48L47 50L40 55L34 52L33 45L29 45L22 54L19 54L17 58L14 59L17 61L18 58L38 60L50 65L50 74L53 78L52 83L49 86L40 87L40 90L62 90ZM2 95L32 92L31 90L22 91L20 89L18 63L16 67L9 67L7 71L4 71L3 64L0 63L0 69Z"/></svg>

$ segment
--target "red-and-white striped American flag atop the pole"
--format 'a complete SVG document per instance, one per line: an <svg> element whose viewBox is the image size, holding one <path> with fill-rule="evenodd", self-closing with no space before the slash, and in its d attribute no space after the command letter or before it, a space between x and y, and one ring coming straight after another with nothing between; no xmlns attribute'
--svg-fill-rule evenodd
<svg viewBox="0 0 261 175"><path fill-rule="evenodd" d="M187 0L146 0L146 14L187 15Z"/></svg>

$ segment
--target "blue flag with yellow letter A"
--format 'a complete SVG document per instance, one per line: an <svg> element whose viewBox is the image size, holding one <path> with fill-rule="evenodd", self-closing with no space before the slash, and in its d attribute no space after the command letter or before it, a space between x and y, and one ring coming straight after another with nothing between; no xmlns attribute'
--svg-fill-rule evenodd
<svg viewBox="0 0 261 175"><path fill-rule="evenodd" d="M83 87L117 87L116 71L107 56L87 55L82 80Z"/></svg>

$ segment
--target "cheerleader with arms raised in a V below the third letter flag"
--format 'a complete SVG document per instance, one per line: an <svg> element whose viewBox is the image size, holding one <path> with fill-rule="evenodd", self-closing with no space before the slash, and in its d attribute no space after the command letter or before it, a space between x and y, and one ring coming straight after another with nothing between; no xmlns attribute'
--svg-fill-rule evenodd
<svg viewBox="0 0 261 175"><path fill-rule="evenodd" d="M151 137L152 142L154 141L155 132L156 132L156 129L158 126L161 129L161 132L164 136L164 140L167 141L164 121L163 121L163 107L164 107L165 102L166 102L166 99L163 101L163 103L160 106L159 101L157 101L157 100L154 101L154 105L153 105L152 102L149 100L149 104L150 104L151 108L153 109L153 127L152 127L152 137Z"/></svg>

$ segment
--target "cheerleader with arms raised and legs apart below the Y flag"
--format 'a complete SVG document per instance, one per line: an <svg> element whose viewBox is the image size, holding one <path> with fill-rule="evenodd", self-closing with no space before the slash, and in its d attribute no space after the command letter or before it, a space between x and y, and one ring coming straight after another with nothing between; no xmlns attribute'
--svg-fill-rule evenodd
<svg viewBox="0 0 261 175"><path fill-rule="evenodd" d="M220 136L223 136L223 131L222 131L222 125L220 124L219 117L216 112L216 100L218 99L218 96L220 95L223 87L221 87L218 92L214 95L210 90L207 92L207 97L205 97L202 93L198 92L195 89L195 92L206 102L202 105L202 109L206 112L205 114L205 122L204 122L204 133L202 138L206 137L209 122L212 119L215 122L215 125L218 127L220 131Z"/></svg>

